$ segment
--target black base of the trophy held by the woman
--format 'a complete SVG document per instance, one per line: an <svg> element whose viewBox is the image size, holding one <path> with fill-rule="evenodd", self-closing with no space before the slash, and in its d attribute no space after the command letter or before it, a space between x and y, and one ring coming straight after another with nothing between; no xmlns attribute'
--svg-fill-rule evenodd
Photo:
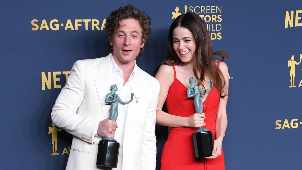
<svg viewBox="0 0 302 170"><path fill-rule="evenodd" d="M204 158L212 156L213 151L213 133L211 131L193 133L193 143L195 158Z"/></svg>

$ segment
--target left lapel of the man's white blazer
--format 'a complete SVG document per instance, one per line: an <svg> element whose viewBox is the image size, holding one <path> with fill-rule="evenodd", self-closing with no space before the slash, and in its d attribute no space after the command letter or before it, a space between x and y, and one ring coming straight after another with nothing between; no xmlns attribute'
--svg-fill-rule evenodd
<svg viewBox="0 0 302 170"><path fill-rule="evenodd" d="M109 54L106 57L103 57L100 64L100 69L98 72L98 77L94 77L95 86L98 91L98 98L101 103L102 112L104 118L107 119L109 117L109 109L111 105L107 105L105 103L105 98L108 93L111 92L110 86L111 84L111 68L110 68L110 56Z"/></svg>

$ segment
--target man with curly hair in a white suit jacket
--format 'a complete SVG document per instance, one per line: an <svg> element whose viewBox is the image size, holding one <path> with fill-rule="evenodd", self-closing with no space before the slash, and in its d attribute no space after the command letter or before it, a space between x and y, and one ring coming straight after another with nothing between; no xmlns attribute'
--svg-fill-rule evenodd
<svg viewBox="0 0 302 170"><path fill-rule="evenodd" d="M120 7L106 21L110 54L73 65L51 113L53 123L73 135L66 169L106 169L95 165L98 142L104 137L120 143L116 170L155 169L159 82L135 61L150 31L145 12L133 5ZM116 122L108 119L110 105L105 103L112 84L122 100L130 100L131 93L135 96L129 104L118 104Z"/></svg>

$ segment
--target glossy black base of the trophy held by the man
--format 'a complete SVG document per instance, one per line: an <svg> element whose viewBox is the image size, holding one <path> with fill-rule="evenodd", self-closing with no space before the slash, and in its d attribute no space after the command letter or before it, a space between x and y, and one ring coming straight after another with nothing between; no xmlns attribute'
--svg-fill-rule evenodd
<svg viewBox="0 0 302 170"><path fill-rule="evenodd" d="M116 141L106 139L100 140L100 142L98 142L96 165L116 168L119 149L120 144Z"/></svg>

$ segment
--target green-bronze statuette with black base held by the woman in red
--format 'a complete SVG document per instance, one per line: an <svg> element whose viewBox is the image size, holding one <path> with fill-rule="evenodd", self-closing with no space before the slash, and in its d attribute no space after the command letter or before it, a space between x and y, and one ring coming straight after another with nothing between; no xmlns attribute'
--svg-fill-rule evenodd
<svg viewBox="0 0 302 170"><path fill-rule="evenodd" d="M194 106L196 113L202 113L203 105L200 98L200 93L205 93L213 88L213 81L210 80L210 88L207 90L202 90L198 86L194 86L196 80L194 77L189 79L189 83L191 84L188 87L187 94L188 97L194 98ZM208 156L212 156L213 150L213 133L209 131L209 129L205 129L203 127L199 127L195 133L193 133L193 143L194 143L194 151L195 158L204 158Z"/></svg>

